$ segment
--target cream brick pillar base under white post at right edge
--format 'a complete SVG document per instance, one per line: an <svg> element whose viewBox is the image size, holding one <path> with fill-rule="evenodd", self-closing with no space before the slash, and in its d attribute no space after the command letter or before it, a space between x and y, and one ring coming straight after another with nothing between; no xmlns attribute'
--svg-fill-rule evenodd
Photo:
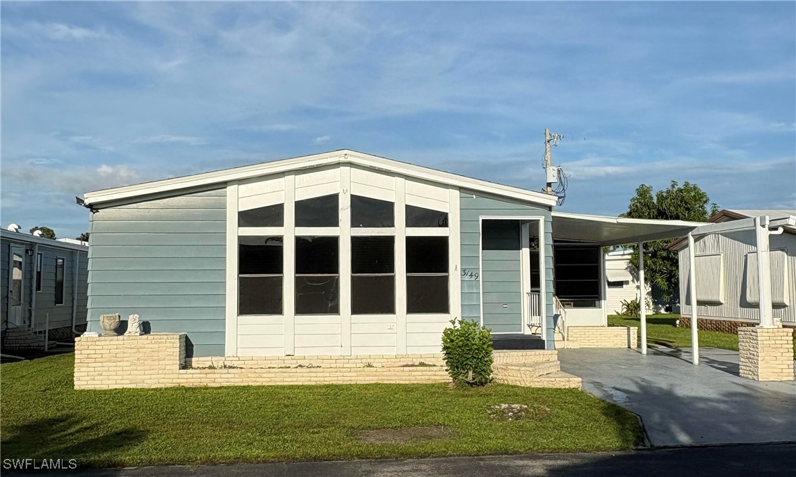
<svg viewBox="0 0 796 477"><path fill-rule="evenodd" d="M755 381L794 379L793 330L745 327L738 330L740 376Z"/></svg>

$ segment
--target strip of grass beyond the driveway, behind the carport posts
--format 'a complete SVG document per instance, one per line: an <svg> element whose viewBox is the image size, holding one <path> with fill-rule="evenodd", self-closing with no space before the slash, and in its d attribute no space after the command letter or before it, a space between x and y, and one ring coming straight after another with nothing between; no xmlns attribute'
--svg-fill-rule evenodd
<svg viewBox="0 0 796 477"><path fill-rule="evenodd" d="M647 315L647 343L651 346L669 346L670 348L690 347L691 328L677 326L676 322L679 318L680 315ZM608 315L608 326L640 326L640 324L638 318ZM699 346L737 351L738 334L700 330ZM794 355L796 355L796 337L794 337Z"/></svg>

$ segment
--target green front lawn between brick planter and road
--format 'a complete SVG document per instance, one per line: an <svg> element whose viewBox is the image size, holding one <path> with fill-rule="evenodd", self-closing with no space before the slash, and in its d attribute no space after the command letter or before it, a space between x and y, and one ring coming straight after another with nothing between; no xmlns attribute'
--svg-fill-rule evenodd
<svg viewBox="0 0 796 477"><path fill-rule="evenodd" d="M635 417L578 389L488 385L306 385L72 389L73 356L0 366L3 458L80 467L579 452L640 444ZM493 421L495 404L545 405ZM442 425L455 437L362 444L359 430Z"/></svg>

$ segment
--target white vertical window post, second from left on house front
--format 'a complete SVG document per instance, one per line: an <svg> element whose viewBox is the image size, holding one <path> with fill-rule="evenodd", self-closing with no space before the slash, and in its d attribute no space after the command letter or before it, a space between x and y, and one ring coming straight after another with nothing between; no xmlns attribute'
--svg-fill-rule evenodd
<svg viewBox="0 0 796 477"><path fill-rule="evenodd" d="M285 236L283 238L282 303L285 317L285 354L295 354L296 277L295 277L295 174L285 174Z"/></svg>

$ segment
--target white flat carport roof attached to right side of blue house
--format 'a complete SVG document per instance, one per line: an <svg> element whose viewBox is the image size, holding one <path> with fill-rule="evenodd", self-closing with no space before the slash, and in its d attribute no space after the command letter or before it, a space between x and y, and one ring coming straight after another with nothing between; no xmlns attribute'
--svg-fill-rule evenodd
<svg viewBox="0 0 796 477"><path fill-rule="evenodd" d="M584 213L552 213L553 240L579 240L601 245L685 237L701 222L628 219Z"/></svg>

